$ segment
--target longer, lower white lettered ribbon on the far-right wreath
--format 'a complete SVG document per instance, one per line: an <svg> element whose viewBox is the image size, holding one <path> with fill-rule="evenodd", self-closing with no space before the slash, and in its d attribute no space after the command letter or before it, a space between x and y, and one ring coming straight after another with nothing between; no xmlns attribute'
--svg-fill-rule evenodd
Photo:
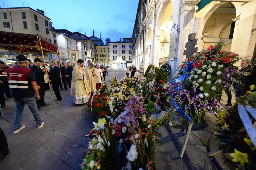
<svg viewBox="0 0 256 170"><path fill-rule="evenodd" d="M246 132L248 133L254 146L256 146L256 130L252 124L252 121L251 121L248 113L245 110L245 107L241 104L238 105L238 113L239 113L239 116L244 124Z"/></svg>

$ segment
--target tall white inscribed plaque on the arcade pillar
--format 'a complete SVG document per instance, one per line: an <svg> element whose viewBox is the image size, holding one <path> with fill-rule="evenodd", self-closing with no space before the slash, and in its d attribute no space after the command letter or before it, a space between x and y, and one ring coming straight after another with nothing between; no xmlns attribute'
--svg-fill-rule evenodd
<svg viewBox="0 0 256 170"><path fill-rule="evenodd" d="M174 22L172 30L171 30L171 35L170 35L168 59L175 57L177 31L178 31L178 25L175 24L175 22Z"/></svg>

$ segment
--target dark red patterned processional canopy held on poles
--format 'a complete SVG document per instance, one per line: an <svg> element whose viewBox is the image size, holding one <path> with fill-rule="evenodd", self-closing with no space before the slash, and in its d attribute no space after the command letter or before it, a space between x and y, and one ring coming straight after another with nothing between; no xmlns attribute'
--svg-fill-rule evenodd
<svg viewBox="0 0 256 170"><path fill-rule="evenodd" d="M0 49L23 53L39 53L40 43L44 53L57 54L57 45L39 35L0 31Z"/></svg>

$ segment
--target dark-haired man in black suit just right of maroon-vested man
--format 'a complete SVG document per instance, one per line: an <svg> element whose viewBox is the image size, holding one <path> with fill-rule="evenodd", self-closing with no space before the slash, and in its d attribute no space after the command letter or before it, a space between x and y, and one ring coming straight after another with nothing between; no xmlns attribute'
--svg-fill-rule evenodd
<svg viewBox="0 0 256 170"><path fill-rule="evenodd" d="M34 65L30 67L30 69L35 73L36 75L36 83L40 88L38 89L39 95L40 95L40 100L36 100L37 104L37 109L41 110L41 106L48 106L48 103L44 102L44 73L45 70L41 69L40 66L42 64L42 60L39 58L34 59Z"/></svg>

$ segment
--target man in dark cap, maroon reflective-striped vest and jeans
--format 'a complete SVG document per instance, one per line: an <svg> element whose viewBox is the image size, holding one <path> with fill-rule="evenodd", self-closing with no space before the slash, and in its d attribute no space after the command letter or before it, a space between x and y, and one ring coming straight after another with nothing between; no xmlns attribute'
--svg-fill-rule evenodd
<svg viewBox="0 0 256 170"><path fill-rule="evenodd" d="M36 104L36 100L39 100L40 96L35 73L26 67L28 64L27 57L18 55L16 57L16 61L18 66L7 70L9 87L16 104L16 112L13 121L14 134L19 133L20 130L26 127L24 125L21 126L22 113L25 104L28 105L30 111L33 113L38 128L42 128L44 126L44 122L41 120Z"/></svg>

